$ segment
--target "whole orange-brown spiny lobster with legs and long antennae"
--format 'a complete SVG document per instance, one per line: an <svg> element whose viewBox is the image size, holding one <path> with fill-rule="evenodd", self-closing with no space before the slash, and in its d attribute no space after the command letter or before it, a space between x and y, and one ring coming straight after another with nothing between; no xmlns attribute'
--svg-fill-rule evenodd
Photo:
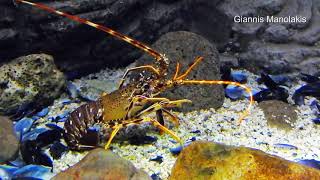
<svg viewBox="0 0 320 180"><path fill-rule="evenodd" d="M191 64L191 66L182 74L179 72L180 64L177 63L174 76L172 78L168 78L168 58L164 54L151 49L147 45L116 32L108 27L55 10L41 3L32 3L26 0L16 0L16 2L29 4L48 12L67 17L73 21L92 26L145 51L149 55L153 56L156 60L155 66L144 65L127 69L122 77L118 90L111 92L110 94L103 94L97 101L84 104L70 114L64 125L64 138L71 149L81 150L92 148L91 146L80 144L80 140L87 134L90 126L99 122L112 129L109 139L105 145L105 149L108 149L112 139L121 128L143 122L151 122L161 131L170 134L175 140L182 144L182 140L175 135L174 132L163 125L163 114L168 115L169 120L175 124L178 124L178 118L167 109L179 107L182 103L190 103L191 101L188 99L171 101L167 98L156 97L159 95L159 93L180 85L231 84L239 86L245 89L245 91L250 95L249 106L239 118L240 122L245 116L248 115L250 111L250 108L253 104L253 96L249 87L232 81L186 79L191 70L203 60L202 57L196 58L193 64ZM149 77L141 76L138 81L134 81L131 84L124 86L123 84L128 73L137 70L148 71L151 73L151 75ZM156 119L146 116L153 112L156 112Z"/></svg>

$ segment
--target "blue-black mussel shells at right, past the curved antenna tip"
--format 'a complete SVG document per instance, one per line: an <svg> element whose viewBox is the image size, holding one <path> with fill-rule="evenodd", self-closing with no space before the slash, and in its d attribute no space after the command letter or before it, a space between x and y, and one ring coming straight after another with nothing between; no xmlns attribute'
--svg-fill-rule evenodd
<svg viewBox="0 0 320 180"><path fill-rule="evenodd" d="M224 80L237 81L239 83L247 82L247 75L243 71L231 72L231 70L227 70L224 71L222 78ZM306 82L306 84L296 89L291 98L296 105L304 105L306 96L315 97L316 99L313 99L309 105L316 115L316 118L312 119L312 121L315 124L320 124L320 78L302 73L301 80ZM288 89L290 88L289 81L290 79L283 75L268 75L266 73L261 73L257 82L259 84L264 84L265 86L259 87L259 89L252 89L254 100L257 102L280 100L288 103ZM226 86L225 94L232 100L249 97L241 87L233 85Z"/></svg>

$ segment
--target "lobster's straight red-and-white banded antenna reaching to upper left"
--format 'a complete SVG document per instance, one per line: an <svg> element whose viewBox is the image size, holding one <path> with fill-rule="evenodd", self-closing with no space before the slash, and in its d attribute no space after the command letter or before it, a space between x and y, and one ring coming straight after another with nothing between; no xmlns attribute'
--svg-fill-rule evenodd
<svg viewBox="0 0 320 180"><path fill-rule="evenodd" d="M61 11L58 11L58 10L55 10L49 6L46 6L45 4L42 4L42 3L33 3L33 2L30 2L30 1L25 1L25 0L15 0L16 2L18 3L24 3L24 4L29 4L31 6L34 6L34 7L37 7L39 9L42 9L42 10L45 10L45 11L48 11L48 12L51 12L51 13L54 13L54 14L57 14L57 15L60 15L60 16L64 16L66 18L69 18L73 21L76 21L76 22L79 22L79 23L83 23L83 24L87 24L91 27L94 27L96 29L99 29L101 31L104 31L114 37L117 37L118 39L120 40L123 40L143 51L145 51L146 53L150 54L151 56L153 56L157 61L166 61L165 57L163 54L155 51L154 49L150 48L149 46L137 41L137 40L134 40L122 33L119 33L117 31L114 31L108 27L105 27L105 26L102 26L102 25L99 25L99 24L96 24L96 23L93 23L87 19L83 19L83 18L80 18L78 16L74 16L74 15L71 15L71 14L68 14L68 13L65 13L65 12L61 12ZM166 62L165 62L166 63Z"/></svg>

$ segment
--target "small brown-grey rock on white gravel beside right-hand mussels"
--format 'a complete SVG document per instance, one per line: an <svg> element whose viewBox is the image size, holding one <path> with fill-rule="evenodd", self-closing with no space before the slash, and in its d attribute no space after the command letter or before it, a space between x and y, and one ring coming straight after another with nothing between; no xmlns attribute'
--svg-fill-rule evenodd
<svg viewBox="0 0 320 180"><path fill-rule="evenodd" d="M262 101L259 103L259 107L262 109L270 127L291 130L298 118L296 108L282 101Z"/></svg>

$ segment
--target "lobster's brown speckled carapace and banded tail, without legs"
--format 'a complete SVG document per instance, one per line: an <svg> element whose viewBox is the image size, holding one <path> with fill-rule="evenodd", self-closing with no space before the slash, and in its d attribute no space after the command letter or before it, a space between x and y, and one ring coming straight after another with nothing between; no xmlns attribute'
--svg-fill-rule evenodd
<svg viewBox="0 0 320 180"><path fill-rule="evenodd" d="M83 104L74 110L64 125L64 138L68 146L75 150L93 148L82 141L88 133L88 128L99 123L106 128L112 128L116 124L124 123L130 117L135 117L148 105L152 105L129 107L134 92L138 92L137 87L138 84L129 84L109 94L103 94L97 101Z"/></svg>

